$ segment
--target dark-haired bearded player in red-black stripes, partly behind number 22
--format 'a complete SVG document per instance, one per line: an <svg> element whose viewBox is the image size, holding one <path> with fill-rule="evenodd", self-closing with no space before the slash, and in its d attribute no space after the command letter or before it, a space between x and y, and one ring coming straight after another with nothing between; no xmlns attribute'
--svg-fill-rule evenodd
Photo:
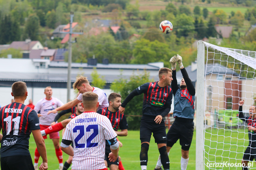
<svg viewBox="0 0 256 170"><path fill-rule="evenodd" d="M116 134L118 136L127 136L128 134L128 124L125 118L124 114L121 114L118 108L121 106L121 95L118 93L111 93L109 95L108 101L109 101L109 107L100 109L97 111L98 114L102 114L104 116L107 116L107 118L110 120L111 125L113 129L115 130ZM121 131L117 131L118 127L121 129ZM120 145L121 147L121 145ZM110 170L125 170L120 156L118 156L118 159L115 162L110 162L108 159L110 150L110 145L106 141L106 147L105 147L105 165L109 165Z"/></svg>

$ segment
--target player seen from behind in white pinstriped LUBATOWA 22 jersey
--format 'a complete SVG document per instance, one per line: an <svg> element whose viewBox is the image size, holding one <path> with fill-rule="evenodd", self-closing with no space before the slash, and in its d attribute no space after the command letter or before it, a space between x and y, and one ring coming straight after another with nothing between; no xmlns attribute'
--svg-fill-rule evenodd
<svg viewBox="0 0 256 170"><path fill-rule="evenodd" d="M72 119L66 126L61 142L61 150L73 156L72 168L107 170L104 163L105 140L108 140L111 148L109 160L115 161L118 158L119 143L117 134L112 128L106 116L97 114L99 106L98 95L93 92L86 92L82 95L84 113ZM74 143L74 150L70 146Z"/></svg>

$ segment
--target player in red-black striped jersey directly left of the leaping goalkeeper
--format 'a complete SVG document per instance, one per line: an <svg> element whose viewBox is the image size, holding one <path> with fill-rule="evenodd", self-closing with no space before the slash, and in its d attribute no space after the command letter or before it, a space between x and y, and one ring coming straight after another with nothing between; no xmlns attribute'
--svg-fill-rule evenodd
<svg viewBox="0 0 256 170"><path fill-rule="evenodd" d="M166 151L166 127L163 117L171 110L173 92L171 90L172 71L169 68L161 68L158 73L158 82L145 83L133 90L123 101L119 110L124 112L126 104L131 99L144 93L142 118L140 124L140 165L141 170L147 169L147 152L151 134L155 138L158 150L161 155L161 162L164 169L170 169L169 157Z"/></svg>

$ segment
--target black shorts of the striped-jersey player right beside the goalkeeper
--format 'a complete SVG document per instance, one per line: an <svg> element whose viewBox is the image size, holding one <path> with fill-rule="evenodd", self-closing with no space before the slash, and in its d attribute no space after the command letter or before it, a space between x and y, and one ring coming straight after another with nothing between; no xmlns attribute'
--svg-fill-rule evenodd
<svg viewBox="0 0 256 170"><path fill-rule="evenodd" d="M155 138L155 143L166 143L166 127L162 119L160 124L157 124L154 119L156 116L142 116L140 122L140 140L143 142L150 142L151 135Z"/></svg>

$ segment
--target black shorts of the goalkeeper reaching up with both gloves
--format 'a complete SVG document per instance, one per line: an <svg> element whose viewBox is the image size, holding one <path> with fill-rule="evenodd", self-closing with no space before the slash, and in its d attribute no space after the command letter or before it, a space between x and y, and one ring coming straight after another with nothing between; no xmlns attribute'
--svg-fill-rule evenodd
<svg viewBox="0 0 256 170"><path fill-rule="evenodd" d="M181 122L174 120L167 133L166 145L172 147L179 139L183 150L189 150L194 134L194 122Z"/></svg>

